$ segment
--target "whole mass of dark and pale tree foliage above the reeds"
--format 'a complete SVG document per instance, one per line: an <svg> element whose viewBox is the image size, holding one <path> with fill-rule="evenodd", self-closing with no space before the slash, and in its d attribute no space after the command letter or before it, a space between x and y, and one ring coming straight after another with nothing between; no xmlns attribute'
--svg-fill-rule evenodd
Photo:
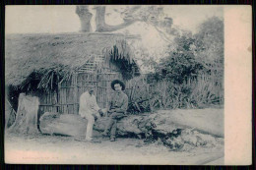
<svg viewBox="0 0 256 170"><path fill-rule="evenodd" d="M174 39L175 50L156 67L160 80L183 84L185 79L202 74L223 78L224 24L217 17L204 22L198 33L183 32Z"/></svg>

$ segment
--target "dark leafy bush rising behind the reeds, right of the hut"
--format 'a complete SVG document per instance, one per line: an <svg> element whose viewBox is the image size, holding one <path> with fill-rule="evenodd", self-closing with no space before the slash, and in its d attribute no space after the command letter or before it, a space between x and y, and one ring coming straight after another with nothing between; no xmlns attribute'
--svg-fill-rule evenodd
<svg viewBox="0 0 256 170"><path fill-rule="evenodd" d="M168 57L161 59L156 73L160 80L164 79L181 85L188 78L196 77L204 67L195 58L191 46L195 42L192 36L176 37L176 50L167 51Z"/></svg>

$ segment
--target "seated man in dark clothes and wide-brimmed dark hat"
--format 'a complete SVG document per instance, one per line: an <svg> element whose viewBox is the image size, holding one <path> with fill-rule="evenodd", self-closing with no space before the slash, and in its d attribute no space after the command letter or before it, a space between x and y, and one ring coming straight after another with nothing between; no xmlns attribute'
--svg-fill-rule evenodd
<svg viewBox="0 0 256 170"><path fill-rule="evenodd" d="M111 83L111 87L113 90L115 90L115 92L111 96L107 110L110 119L102 135L107 137L110 131L110 142L114 142L117 121L123 118L126 114L128 107L128 97L123 92L125 89L123 82L115 80Z"/></svg>

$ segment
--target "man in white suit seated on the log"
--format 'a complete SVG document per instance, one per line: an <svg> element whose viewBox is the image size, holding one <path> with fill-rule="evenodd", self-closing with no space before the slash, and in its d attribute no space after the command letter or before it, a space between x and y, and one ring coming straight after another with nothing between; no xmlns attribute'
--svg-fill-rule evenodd
<svg viewBox="0 0 256 170"><path fill-rule="evenodd" d="M86 141L95 142L93 140L93 127L95 124L95 119L99 118L102 112L96 103L96 96L94 95L95 86L89 86L88 90L80 96L80 107L79 115L82 118L86 118L87 124L87 134Z"/></svg>

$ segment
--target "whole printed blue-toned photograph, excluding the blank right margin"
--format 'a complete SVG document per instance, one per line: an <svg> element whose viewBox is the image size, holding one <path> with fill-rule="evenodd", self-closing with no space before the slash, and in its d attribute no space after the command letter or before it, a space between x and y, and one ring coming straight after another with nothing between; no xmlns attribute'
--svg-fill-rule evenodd
<svg viewBox="0 0 256 170"><path fill-rule="evenodd" d="M6 6L5 162L224 165L223 6Z"/></svg>

